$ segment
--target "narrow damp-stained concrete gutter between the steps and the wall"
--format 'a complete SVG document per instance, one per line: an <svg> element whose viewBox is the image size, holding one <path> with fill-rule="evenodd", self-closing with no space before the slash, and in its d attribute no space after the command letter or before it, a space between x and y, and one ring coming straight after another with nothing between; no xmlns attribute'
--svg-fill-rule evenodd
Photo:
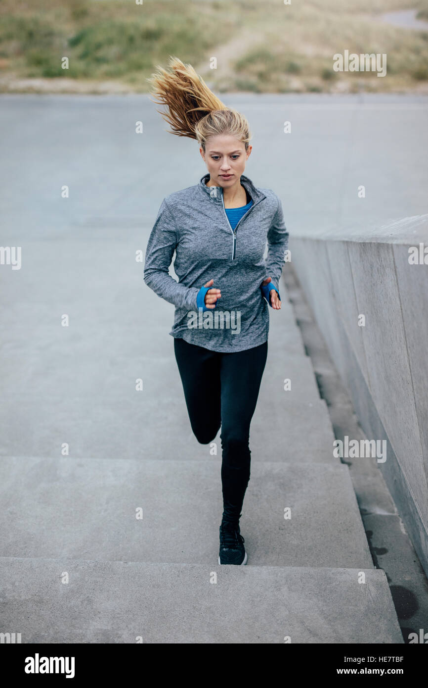
<svg viewBox="0 0 428 688"><path fill-rule="evenodd" d="M287 271L283 276L305 348L311 356L320 394L328 405L335 437L343 438L348 434L353 438L365 438L343 380L328 354L326 343L308 308L294 270ZM352 370L354 368L355 365L352 366ZM375 566L385 571L398 622L405 642L408 642L410 632L418 633L420 628L427 627L427 578L403 521L398 515L379 465L370 460L350 458L343 459L343 462L349 466ZM388 465L391 466L390 463Z"/></svg>

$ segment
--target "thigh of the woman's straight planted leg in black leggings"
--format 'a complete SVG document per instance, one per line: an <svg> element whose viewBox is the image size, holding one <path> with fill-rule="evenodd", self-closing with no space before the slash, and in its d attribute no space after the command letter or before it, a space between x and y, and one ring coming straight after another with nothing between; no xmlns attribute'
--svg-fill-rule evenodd
<svg viewBox="0 0 428 688"><path fill-rule="evenodd" d="M256 410L267 361L267 341L221 359L222 437L245 438Z"/></svg>

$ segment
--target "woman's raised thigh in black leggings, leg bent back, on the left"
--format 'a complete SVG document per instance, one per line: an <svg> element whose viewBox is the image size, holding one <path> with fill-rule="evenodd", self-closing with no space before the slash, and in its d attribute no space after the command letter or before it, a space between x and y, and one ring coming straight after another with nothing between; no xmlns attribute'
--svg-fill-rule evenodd
<svg viewBox="0 0 428 688"><path fill-rule="evenodd" d="M221 423L221 354L174 338L190 425L202 444L216 437Z"/></svg>

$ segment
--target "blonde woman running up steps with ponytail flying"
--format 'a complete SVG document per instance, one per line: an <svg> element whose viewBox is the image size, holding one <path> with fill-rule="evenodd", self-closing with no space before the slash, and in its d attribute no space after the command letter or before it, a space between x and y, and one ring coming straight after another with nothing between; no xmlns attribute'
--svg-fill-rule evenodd
<svg viewBox="0 0 428 688"><path fill-rule="evenodd" d="M175 305L174 354L196 439L221 428L223 519L218 563L247 563L239 519L250 477L249 427L267 360L269 305L289 233L282 205L243 172L252 146L246 118L226 107L191 65L170 57L148 79L171 133L196 139L207 173L164 197L150 233L144 281ZM267 257L264 257L268 242ZM168 270L174 260L179 281ZM269 305L268 305L269 304Z"/></svg>

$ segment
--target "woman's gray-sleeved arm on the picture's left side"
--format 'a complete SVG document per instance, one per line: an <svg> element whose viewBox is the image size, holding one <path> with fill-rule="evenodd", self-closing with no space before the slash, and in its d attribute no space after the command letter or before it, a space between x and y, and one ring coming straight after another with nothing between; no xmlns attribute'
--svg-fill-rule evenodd
<svg viewBox="0 0 428 688"><path fill-rule="evenodd" d="M159 297L173 303L177 308L198 310L196 297L199 288L180 284L168 272L177 240L174 217L164 199L148 239L144 281Z"/></svg>

